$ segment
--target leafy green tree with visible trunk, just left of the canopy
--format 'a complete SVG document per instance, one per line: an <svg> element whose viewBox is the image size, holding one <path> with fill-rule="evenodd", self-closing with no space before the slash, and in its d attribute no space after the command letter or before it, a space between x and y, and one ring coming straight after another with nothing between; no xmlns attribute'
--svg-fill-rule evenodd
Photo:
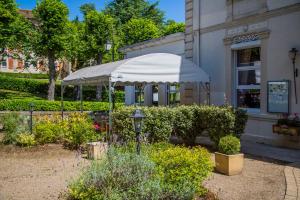
<svg viewBox="0 0 300 200"><path fill-rule="evenodd" d="M49 68L48 100L54 100L56 66L55 61L66 49L68 8L61 0L38 1L33 10L38 20L35 54L47 57Z"/></svg>

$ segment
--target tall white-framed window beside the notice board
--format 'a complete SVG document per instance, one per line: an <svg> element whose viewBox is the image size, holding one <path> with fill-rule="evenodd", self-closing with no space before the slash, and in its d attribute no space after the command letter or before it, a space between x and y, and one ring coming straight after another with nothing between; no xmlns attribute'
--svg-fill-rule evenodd
<svg viewBox="0 0 300 200"><path fill-rule="evenodd" d="M236 104L237 107L260 109L260 48L236 51Z"/></svg>

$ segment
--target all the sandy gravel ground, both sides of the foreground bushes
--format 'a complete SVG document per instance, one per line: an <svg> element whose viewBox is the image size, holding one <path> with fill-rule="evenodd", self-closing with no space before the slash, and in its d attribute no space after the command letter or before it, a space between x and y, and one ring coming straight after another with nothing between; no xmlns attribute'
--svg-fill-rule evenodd
<svg viewBox="0 0 300 200"><path fill-rule="evenodd" d="M60 145L22 149L0 145L0 200L57 199L90 161ZM214 173L205 186L220 200L283 199L284 165L246 158L240 175Z"/></svg>

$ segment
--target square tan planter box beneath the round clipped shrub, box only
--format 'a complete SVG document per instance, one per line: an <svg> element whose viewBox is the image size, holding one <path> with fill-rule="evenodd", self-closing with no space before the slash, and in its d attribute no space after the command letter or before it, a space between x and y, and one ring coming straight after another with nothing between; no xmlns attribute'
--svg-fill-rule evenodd
<svg viewBox="0 0 300 200"><path fill-rule="evenodd" d="M244 166L244 154L226 155L215 152L216 170L228 176L240 174Z"/></svg>

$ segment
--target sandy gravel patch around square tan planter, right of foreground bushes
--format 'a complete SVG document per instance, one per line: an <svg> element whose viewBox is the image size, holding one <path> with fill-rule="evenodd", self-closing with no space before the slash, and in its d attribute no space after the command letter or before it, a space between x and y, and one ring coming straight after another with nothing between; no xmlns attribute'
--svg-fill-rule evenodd
<svg viewBox="0 0 300 200"><path fill-rule="evenodd" d="M214 159L214 158L213 158ZM240 175L213 173L204 185L220 200L283 200L284 165L268 159L247 157Z"/></svg>

